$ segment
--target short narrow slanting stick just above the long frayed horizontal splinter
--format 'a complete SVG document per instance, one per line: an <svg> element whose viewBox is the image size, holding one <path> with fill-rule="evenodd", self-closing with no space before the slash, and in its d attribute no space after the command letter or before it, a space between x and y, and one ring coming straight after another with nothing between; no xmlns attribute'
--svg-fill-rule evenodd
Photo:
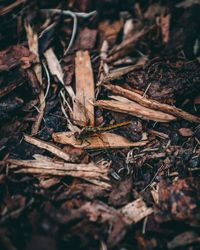
<svg viewBox="0 0 200 250"><path fill-rule="evenodd" d="M56 147L55 145L41 141L39 139L33 138L31 136L25 135L24 140L28 143L31 143L39 148L45 149L48 152L51 152L52 154L56 155L57 157L65 160L65 161L71 161L74 162L76 159L73 158L73 156L65 153L62 149Z"/></svg>

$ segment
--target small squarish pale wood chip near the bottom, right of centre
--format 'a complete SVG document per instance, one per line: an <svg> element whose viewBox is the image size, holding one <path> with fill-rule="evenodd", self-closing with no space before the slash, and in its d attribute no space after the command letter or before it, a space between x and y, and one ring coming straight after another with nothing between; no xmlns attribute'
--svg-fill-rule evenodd
<svg viewBox="0 0 200 250"><path fill-rule="evenodd" d="M139 198L120 209L120 212L124 215L125 222L128 225L137 223L144 219L146 216L153 213L152 208L148 208L145 202Z"/></svg>

